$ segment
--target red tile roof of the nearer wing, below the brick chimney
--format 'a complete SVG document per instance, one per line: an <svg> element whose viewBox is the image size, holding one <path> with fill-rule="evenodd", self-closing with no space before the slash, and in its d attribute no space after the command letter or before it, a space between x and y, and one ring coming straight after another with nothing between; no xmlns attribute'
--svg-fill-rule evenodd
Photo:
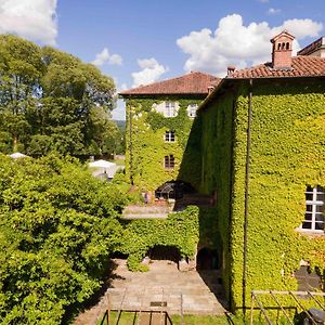
<svg viewBox="0 0 325 325"><path fill-rule="evenodd" d="M227 76L227 79L316 76L325 76L325 57L301 55L292 57L292 69L273 69L271 63L265 63L251 68L235 70L230 76Z"/></svg>

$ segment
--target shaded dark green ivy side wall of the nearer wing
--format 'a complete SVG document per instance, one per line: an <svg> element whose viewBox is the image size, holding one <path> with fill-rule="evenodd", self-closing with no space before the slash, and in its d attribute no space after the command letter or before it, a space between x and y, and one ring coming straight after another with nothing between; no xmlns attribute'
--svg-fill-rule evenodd
<svg viewBox="0 0 325 325"><path fill-rule="evenodd" d="M234 95L218 98L211 107L199 112L202 120L202 182L200 192L217 191L217 206L209 213L213 220L216 248L222 260L223 284L230 298L231 260L230 220L233 154L233 110ZM207 216L208 211L203 211Z"/></svg>

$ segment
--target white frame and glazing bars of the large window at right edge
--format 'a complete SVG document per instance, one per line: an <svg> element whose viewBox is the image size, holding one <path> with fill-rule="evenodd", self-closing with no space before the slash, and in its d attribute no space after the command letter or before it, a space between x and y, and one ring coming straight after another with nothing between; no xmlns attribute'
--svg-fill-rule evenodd
<svg viewBox="0 0 325 325"><path fill-rule="evenodd" d="M310 214L311 219L304 219L300 229L306 232L316 232L316 233L324 233L324 224L325 224L325 213L324 208L323 211L317 211L318 207L324 207L325 202L323 199L318 199L320 195L324 195L325 188L321 186L311 187L309 186L306 191L307 195L312 195L312 199L306 199L306 214ZM311 207L311 209L308 209L308 206ZM316 220L316 217L321 217L321 220ZM320 218L318 218L320 219ZM322 220L323 219L323 220ZM310 227L306 227L304 225L310 224ZM316 225L322 225L323 229L317 229Z"/></svg>

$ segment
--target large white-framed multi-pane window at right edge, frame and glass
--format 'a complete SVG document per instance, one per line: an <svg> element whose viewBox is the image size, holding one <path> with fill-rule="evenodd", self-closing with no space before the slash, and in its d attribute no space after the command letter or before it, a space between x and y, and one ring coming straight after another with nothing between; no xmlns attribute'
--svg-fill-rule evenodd
<svg viewBox="0 0 325 325"><path fill-rule="evenodd" d="M308 186L306 191L306 213L302 229L324 232L325 191L321 186Z"/></svg>

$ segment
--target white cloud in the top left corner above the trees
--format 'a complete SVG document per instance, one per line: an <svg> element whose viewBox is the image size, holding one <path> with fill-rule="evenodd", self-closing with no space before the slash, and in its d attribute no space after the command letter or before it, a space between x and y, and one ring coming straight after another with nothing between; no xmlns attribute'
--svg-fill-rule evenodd
<svg viewBox="0 0 325 325"><path fill-rule="evenodd" d="M56 0L0 0L0 34L55 44Z"/></svg>

